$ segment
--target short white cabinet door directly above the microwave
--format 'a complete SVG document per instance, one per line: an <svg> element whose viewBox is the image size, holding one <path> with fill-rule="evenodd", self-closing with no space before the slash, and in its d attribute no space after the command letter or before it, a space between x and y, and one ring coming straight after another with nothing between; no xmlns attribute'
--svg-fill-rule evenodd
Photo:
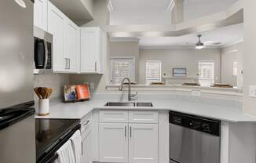
<svg viewBox="0 0 256 163"><path fill-rule="evenodd" d="M34 25L47 31L47 5L48 0L35 0L34 3Z"/></svg>

